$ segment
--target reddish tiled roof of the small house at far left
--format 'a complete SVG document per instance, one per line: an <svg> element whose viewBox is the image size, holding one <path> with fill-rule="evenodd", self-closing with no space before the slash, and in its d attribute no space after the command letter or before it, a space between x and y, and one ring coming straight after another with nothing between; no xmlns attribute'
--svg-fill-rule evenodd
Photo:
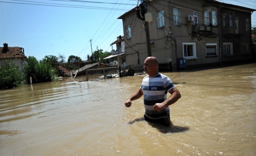
<svg viewBox="0 0 256 156"><path fill-rule="evenodd" d="M20 47L0 47L0 59L26 58L24 48Z"/></svg>

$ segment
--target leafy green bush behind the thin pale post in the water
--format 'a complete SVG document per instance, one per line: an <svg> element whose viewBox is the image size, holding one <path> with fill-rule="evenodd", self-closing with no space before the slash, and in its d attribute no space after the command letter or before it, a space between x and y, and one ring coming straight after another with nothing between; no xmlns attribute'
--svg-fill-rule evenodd
<svg viewBox="0 0 256 156"><path fill-rule="evenodd" d="M28 84L30 83L30 77L32 77L32 83L49 82L56 78L56 70L52 68L51 64L39 64L33 56L29 56L27 63L24 62L23 66L24 77Z"/></svg>

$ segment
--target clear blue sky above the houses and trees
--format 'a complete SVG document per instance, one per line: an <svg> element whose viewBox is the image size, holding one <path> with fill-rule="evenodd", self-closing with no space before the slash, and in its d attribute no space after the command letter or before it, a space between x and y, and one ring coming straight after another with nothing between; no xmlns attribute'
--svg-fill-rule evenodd
<svg viewBox="0 0 256 156"><path fill-rule="evenodd" d="M256 0L217 0L256 9ZM140 3L140 2L139 2ZM0 0L0 46L24 48L25 56L70 55L87 60L124 35L122 19L138 0ZM251 16L256 26L256 11ZM113 46L113 49L116 49Z"/></svg>

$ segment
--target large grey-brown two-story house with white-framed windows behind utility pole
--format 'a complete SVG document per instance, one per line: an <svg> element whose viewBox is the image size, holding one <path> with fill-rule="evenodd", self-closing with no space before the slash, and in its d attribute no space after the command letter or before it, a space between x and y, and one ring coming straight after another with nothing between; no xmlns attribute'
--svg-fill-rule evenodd
<svg viewBox="0 0 256 156"><path fill-rule="evenodd" d="M178 60L193 67L252 59L251 13L255 9L215 0L148 0L146 6L145 21L138 18L143 17L145 5L118 18L123 21L127 64L142 64L149 44L152 56L159 63L171 62L172 69L179 67ZM150 42L145 22L149 22Z"/></svg>

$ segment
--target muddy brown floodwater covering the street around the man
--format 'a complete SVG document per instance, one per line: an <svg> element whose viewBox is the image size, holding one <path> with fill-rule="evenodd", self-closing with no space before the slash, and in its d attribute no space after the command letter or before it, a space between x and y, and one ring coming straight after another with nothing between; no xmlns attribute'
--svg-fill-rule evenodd
<svg viewBox="0 0 256 156"><path fill-rule="evenodd" d="M256 64L163 74L182 95L171 121L188 131L139 120L143 97L125 107L145 75L63 78L0 90L0 155L256 155Z"/></svg>

